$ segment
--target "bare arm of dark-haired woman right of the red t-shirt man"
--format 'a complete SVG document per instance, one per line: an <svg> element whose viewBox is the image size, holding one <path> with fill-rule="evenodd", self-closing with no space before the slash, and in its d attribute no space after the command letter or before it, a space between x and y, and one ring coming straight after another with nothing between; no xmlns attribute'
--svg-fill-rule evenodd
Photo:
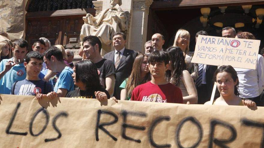
<svg viewBox="0 0 264 148"><path fill-rule="evenodd" d="M182 73L183 73L183 83L189 94L188 96L183 97L183 103L186 104L189 101L190 104L197 104L198 96L193 79L188 71L183 71Z"/></svg>

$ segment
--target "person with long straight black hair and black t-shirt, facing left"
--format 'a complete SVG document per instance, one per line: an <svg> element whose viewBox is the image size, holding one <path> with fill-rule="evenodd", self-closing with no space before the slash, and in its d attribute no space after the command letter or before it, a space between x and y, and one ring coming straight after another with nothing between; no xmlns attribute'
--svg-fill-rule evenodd
<svg viewBox="0 0 264 148"><path fill-rule="evenodd" d="M66 97L72 98L97 98L98 100L109 99L110 94L105 90L99 80L97 68L90 60L76 62L72 74L76 90L68 92Z"/></svg>

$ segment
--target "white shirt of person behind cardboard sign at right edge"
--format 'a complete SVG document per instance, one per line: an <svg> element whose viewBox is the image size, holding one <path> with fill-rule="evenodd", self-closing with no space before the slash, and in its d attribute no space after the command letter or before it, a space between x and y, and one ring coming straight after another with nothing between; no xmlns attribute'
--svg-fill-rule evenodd
<svg viewBox="0 0 264 148"><path fill-rule="evenodd" d="M264 58L258 54L257 68L234 68L239 80L239 97L253 98L261 94L264 89Z"/></svg>

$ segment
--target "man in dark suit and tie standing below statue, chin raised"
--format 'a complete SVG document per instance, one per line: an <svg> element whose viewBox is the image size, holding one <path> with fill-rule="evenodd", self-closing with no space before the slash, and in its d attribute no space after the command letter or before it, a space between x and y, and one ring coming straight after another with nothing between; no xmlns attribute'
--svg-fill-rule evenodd
<svg viewBox="0 0 264 148"><path fill-rule="evenodd" d="M114 97L120 100L121 83L130 76L132 66L138 53L134 50L126 49L126 35L124 33L115 33L113 35L114 51L104 55L105 59L114 62L116 67L116 84L114 90Z"/></svg>

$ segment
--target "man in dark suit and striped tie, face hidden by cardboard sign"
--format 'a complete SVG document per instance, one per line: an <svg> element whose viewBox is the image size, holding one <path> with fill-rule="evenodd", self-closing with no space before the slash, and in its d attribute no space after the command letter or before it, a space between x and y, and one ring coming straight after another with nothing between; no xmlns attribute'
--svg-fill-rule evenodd
<svg viewBox="0 0 264 148"><path fill-rule="evenodd" d="M199 31L196 33L195 38L197 41L198 35L208 36L206 31ZM211 94L214 87L214 72L217 70L217 66L198 64L199 72L196 79L196 89L198 95L198 104L204 104L210 101ZM216 90L215 97L219 97L219 92Z"/></svg>

